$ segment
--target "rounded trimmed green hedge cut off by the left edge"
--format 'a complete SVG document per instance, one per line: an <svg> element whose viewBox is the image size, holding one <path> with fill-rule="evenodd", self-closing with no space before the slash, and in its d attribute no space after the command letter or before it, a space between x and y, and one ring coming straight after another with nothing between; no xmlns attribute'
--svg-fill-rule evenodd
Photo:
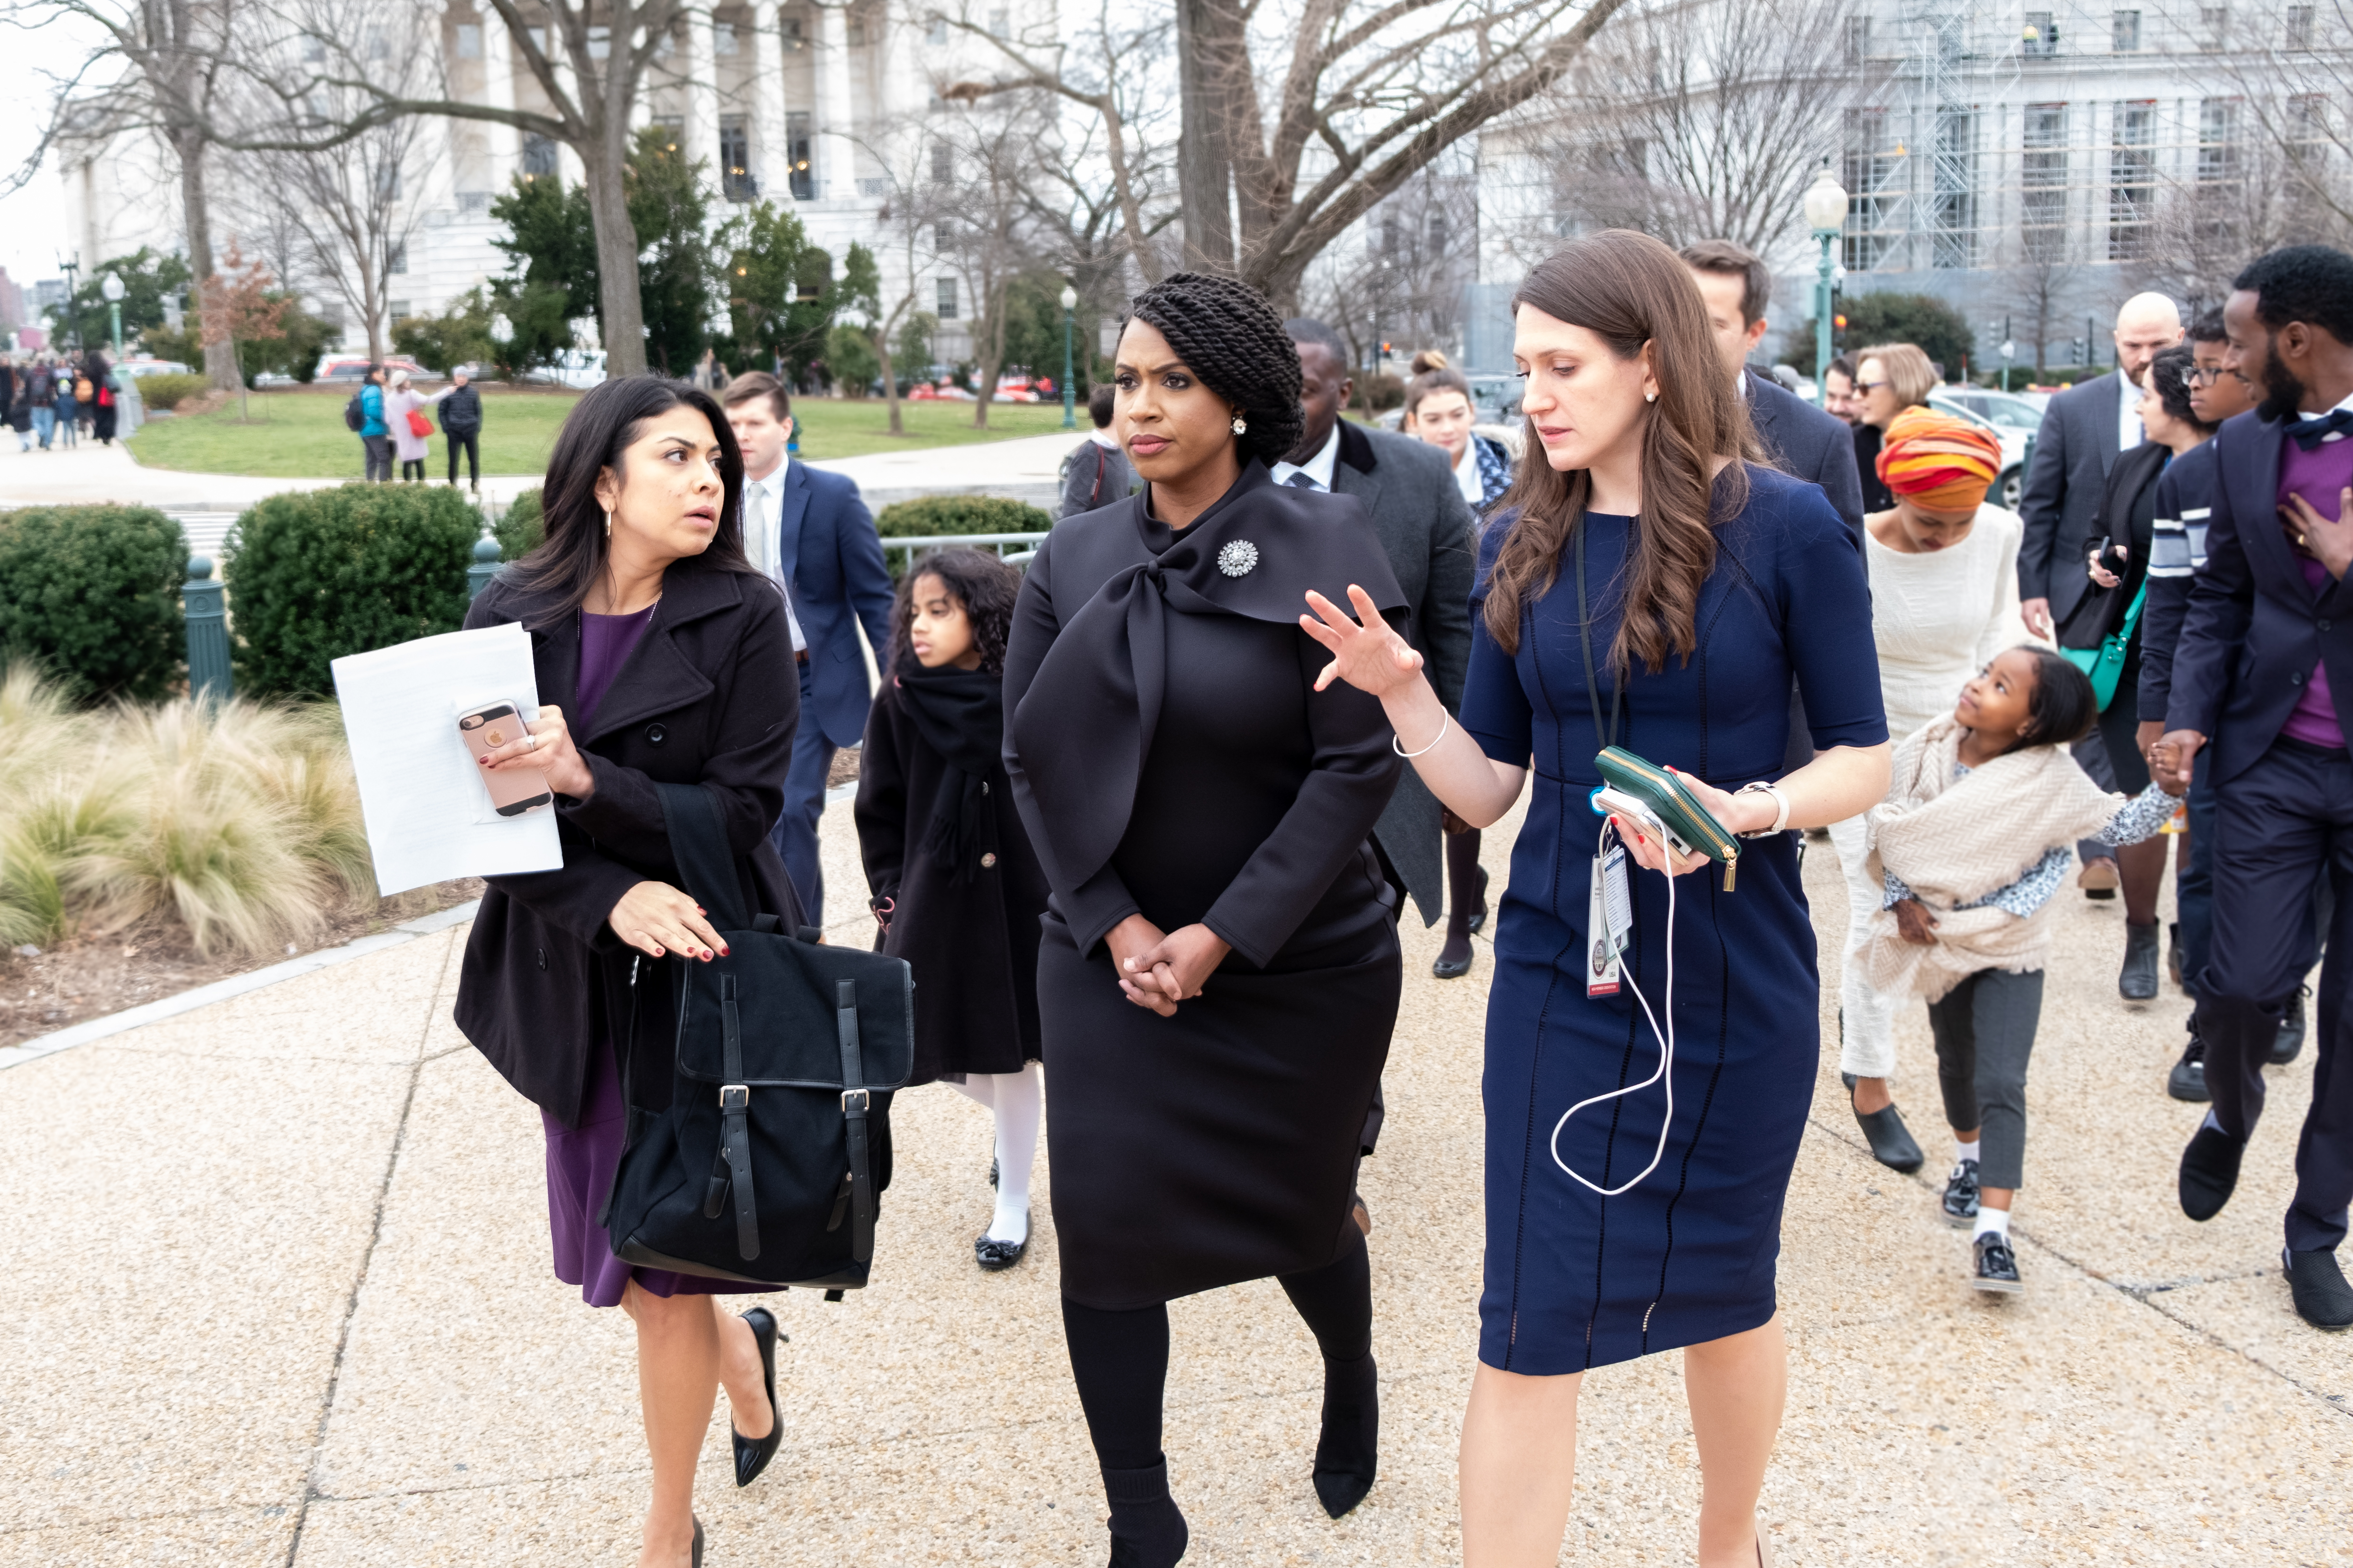
<svg viewBox="0 0 2353 1568"><path fill-rule="evenodd" d="M0 656L31 658L75 701L155 701L188 646L188 536L146 505L0 512Z"/></svg>

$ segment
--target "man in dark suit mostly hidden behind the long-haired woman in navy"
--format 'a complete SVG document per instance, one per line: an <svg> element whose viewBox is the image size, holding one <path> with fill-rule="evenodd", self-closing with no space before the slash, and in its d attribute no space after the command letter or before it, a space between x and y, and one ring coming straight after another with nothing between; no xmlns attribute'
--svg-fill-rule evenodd
<svg viewBox="0 0 2353 1568"><path fill-rule="evenodd" d="M1699 299L1708 306L1715 353L1722 355L1725 374L1748 400L1748 423L1755 425L1765 454L1784 473L1821 487L1821 494L1831 498L1831 510L1847 520L1854 550L1868 562L1871 552L1864 550L1864 480L1854 468L1852 425L1748 369L1748 355L1765 336L1765 308L1772 303L1772 273L1765 261L1732 240L1701 240L1682 247L1682 266L1692 268ZM1795 771L1812 759L1814 731L1805 724L1805 698L1791 684L1788 752L1781 757L1781 769Z"/></svg>

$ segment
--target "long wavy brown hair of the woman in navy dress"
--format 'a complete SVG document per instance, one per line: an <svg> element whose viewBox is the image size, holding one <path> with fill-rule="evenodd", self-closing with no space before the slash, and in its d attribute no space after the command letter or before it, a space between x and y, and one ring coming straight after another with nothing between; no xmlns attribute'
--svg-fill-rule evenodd
<svg viewBox="0 0 2353 1568"><path fill-rule="evenodd" d="M1544 315L1598 334L1619 360L1649 348L1659 402L1642 409L1642 527L1621 576L1626 607L1609 663L1624 677L1640 658L1657 675L1666 656L1699 646L1699 588L1715 569L1715 524L1748 501L1748 470L1760 456L1739 395L1708 331L1708 310L1692 270L1675 252L1631 228L1569 240L1527 273L1511 296ZM1487 583L1487 635L1506 654L1520 649L1520 616L1560 578L1560 557L1593 498L1593 475L1544 461L1537 421L1527 418L1529 461L1501 505L1513 515ZM1732 458L1711 475L1715 458Z"/></svg>

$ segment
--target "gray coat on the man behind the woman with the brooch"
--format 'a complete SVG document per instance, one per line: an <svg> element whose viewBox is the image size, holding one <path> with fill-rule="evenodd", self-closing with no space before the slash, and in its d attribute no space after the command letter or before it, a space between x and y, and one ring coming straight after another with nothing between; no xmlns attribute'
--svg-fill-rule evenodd
<svg viewBox="0 0 2353 1568"><path fill-rule="evenodd" d="M1412 644L1421 651L1438 701L1454 712L1471 672L1471 578L1478 571L1475 524L1471 503L1454 484L1454 465L1440 447L1344 418L1332 489L1355 496L1372 520L1414 611ZM1398 778L1398 792L1372 837L1405 879L1421 924L1438 924L1447 858L1440 846L1438 797L1414 769Z"/></svg>

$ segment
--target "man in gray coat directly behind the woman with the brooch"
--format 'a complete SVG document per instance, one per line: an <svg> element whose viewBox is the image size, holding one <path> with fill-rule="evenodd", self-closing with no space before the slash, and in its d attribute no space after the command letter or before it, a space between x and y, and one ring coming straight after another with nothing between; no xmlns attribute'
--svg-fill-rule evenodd
<svg viewBox="0 0 2353 1568"><path fill-rule="evenodd" d="M1407 642L1421 654L1438 701L1454 712L1471 672L1471 578L1478 571L1471 503L1454 482L1454 465L1440 447L1341 418L1339 411L1355 393L1348 350L1318 320L1299 317L1285 322L1285 329L1299 350L1306 430L1289 461L1275 463L1275 484L1358 498L1412 607ZM1412 898L1424 926L1435 926L1445 910L1440 835L1438 797L1419 773L1405 769L1388 811L1372 827L1372 844L1400 889L1400 914L1405 898ZM1374 1093L1365 1119L1367 1154L1379 1138L1381 1114L1381 1098ZM1355 1220L1372 1229L1362 1199L1355 1204Z"/></svg>

